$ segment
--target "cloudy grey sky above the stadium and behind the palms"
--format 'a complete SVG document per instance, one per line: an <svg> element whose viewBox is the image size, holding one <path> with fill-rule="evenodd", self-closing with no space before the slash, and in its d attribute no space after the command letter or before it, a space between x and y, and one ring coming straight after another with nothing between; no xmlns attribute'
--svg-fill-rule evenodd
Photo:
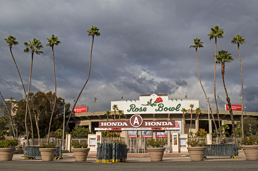
<svg viewBox="0 0 258 171"><path fill-rule="evenodd" d="M24 42L39 39L43 54L34 54L30 92L55 91L52 49L46 38L59 36L54 46L57 96L73 104L88 77L92 36L87 30L99 28L94 37L90 79L76 107L91 111L110 110L110 101L138 100L140 95L167 94L169 99L199 99L201 109L207 102L201 89L194 38L203 42L198 48L202 85L215 110L215 40L207 36L211 28L224 29L217 39L217 51L227 50L234 61L225 67L225 84L232 104L241 105L241 69L236 44L239 34L244 106L258 108L258 1L1 1L0 2L0 91L5 99L24 98L10 48L4 40L16 37L12 52L25 90L28 90L31 53L24 53ZM254 36L254 37L253 37ZM216 65L218 109L224 110L226 93L221 65ZM96 102L94 103L94 97ZM2 99L0 103L2 103ZM119 106L118 106L119 107Z"/></svg>

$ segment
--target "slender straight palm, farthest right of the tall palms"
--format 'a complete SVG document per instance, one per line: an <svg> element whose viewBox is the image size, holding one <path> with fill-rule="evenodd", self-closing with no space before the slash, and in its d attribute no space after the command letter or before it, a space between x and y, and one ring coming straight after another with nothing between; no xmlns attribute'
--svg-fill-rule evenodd
<svg viewBox="0 0 258 171"><path fill-rule="evenodd" d="M243 70L242 70L242 62L241 62L241 55L240 55L240 50L239 50L239 44L244 44L245 39L242 38L239 34L235 35L234 38L231 40L231 43L237 44L238 48L238 53L239 53L239 60L240 60L240 68L241 68L241 83L242 83L242 116L241 116L241 126L242 130L244 130L244 123L243 123L243 100L244 100L244 87L243 87ZM242 139L244 139L244 132L242 131Z"/></svg>

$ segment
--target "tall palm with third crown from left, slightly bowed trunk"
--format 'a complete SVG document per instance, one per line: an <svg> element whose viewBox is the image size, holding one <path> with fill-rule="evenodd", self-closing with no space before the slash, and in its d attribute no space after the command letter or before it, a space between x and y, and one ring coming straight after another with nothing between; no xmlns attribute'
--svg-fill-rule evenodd
<svg viewBox="0 0 258 171"><path fill-rule="evenodd" d="M52 34L52 36L50 38L47 38L48 40L48 44L47 46L52 47L52 54L53 54L53 68L54 68L54 80L55 80L55 100L54 100L54 105L53 105L53 109L52 109L52 114L51 114L51 118L50 118L50 123L49 123L49 129L48 129L48 139L49 139L49 135L50 135L50 128L51 128L51 122L52 122L52 118L53 118L53 113L55 110L55 105L56 105L56 73L55 73L55 55L54 55L54 45L58 45L61 42L58 41L58 37L55 37L54 34Z"/></svg>

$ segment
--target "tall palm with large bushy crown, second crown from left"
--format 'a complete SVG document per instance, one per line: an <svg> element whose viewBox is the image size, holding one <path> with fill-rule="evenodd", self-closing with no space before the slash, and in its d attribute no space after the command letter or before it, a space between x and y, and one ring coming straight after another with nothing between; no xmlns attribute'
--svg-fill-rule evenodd
<svg viewBox="0 0 258 171"><path fill-rule="evenodd" d="M28 92L27 92L27 94L29 94L30 82L31 82L32 64L33 64L33 55L34 55L34 53L36 53L36 54L43 53L41 51L41 49L43 48L43 45L41 44L41 41L36 39L36 38L33 38L32 41L24 42L24 45L26 46L26 48L23 50L23 52L28 53L29 51L31 51L29 86L28 86ZM26 129L26 136L27 136L27 145L29 145L29 140L28 140L29 133L28 133L27 124L26 124L27 112L28 112L28 100L29 100L29 96L27 95L26 96L26 111L25 111L25 129ZM31 120L31 118L30 118L30 120ZM32 127L32 124L31 124L31 127ZM33 134L33 132L32 132L32 134Z"/></svg>

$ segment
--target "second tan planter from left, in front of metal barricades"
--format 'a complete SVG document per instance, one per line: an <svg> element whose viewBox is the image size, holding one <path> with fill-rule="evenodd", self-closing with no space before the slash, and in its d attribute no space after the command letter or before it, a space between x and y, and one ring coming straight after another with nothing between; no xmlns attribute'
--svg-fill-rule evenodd
<svg viewBox="0 0 258 171"><path fill-rule="evenodd" d="M42 144L40 148L41 152L41 157L43 161L53 161L56 150L55 148L56 144L55 143L47 143L47 144Z"/></svg>

